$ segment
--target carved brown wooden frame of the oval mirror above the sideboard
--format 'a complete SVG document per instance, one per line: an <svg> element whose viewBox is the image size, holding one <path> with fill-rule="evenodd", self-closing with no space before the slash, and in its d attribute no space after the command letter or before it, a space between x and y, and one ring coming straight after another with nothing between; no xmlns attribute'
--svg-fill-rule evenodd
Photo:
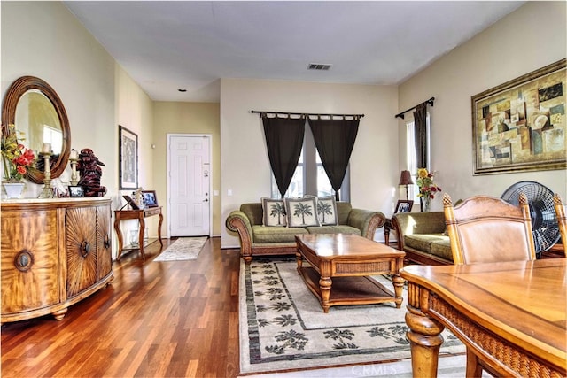
<svg viewBox="0 0 567 378"><path fill-rule="evenodd" d="M63 174L69 159L69 153L71 151L71 128L69 127L69 120L61 99L47 82L35 76L22 76L12 82L12 85L6 92L6 96L4 96L4 104L2 106L2 134L8 133L8 125L15 125L16 106L18 106L19 98L24 96L24 94L31 89L39 90L42 92L43 96L46 96L50 100L55 108L55 112L58 114L59 123L61 124L63 134L61 154L58 160L54 164L51 164L50 168L51 178L55 179ZM27 170L26 177L29 181L42 184L43 179L45 179L45 174L33 167Z"/></svg>

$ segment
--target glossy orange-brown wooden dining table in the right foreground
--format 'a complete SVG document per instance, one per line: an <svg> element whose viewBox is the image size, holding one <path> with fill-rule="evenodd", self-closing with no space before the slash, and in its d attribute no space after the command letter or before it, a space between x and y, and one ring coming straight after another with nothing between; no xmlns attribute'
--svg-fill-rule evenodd
<svg viewBox="0 0 567 378"><path fill-rule="evenodd" d="M495 374L567 376L566 261L402 268L413 376L437 376L445 327Z"/></svg>

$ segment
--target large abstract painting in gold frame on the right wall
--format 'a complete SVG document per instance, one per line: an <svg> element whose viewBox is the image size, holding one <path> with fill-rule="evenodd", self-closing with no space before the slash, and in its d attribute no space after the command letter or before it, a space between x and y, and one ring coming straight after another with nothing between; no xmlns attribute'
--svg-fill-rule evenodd
<svg viewBox="0 0 567 378"><path fill-rule="evenodd" d="M565 62L471 97L473 174L567 167Z"/></svg>

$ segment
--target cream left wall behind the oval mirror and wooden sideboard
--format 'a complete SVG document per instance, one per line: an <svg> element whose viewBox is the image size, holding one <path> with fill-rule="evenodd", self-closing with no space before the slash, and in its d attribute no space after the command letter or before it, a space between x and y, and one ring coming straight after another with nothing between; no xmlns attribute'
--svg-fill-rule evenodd
<svg viewBox="0 0 567 378"><path fill-rule="evenodd" d="M101 184L108 190L106 197L113 199L113 210L121 206L118 125L128 126L139 137L140 184L151 188L150 98L62 3L2 2L0 6L2 96L24 75L37 76L55 89L69 118L71 147L90 148L105 163ZM67 167L62 179L69 178ZM28 182L27 186L25 197L41 191L40 185ZM133 223L123 228L136 227ZM116 251L113 235L114 256Z"/></svg>

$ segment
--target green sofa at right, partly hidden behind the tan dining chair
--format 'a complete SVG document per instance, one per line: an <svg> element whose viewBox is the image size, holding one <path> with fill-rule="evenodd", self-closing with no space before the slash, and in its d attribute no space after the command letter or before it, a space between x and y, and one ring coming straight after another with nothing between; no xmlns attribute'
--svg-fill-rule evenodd
<svg viewBox="0 0 567 378"><path fill-rule="evenodd" d="M406 259L422 265L451 265L453 252L444 212L400 212L392 217L398 249Z"/></svg>

